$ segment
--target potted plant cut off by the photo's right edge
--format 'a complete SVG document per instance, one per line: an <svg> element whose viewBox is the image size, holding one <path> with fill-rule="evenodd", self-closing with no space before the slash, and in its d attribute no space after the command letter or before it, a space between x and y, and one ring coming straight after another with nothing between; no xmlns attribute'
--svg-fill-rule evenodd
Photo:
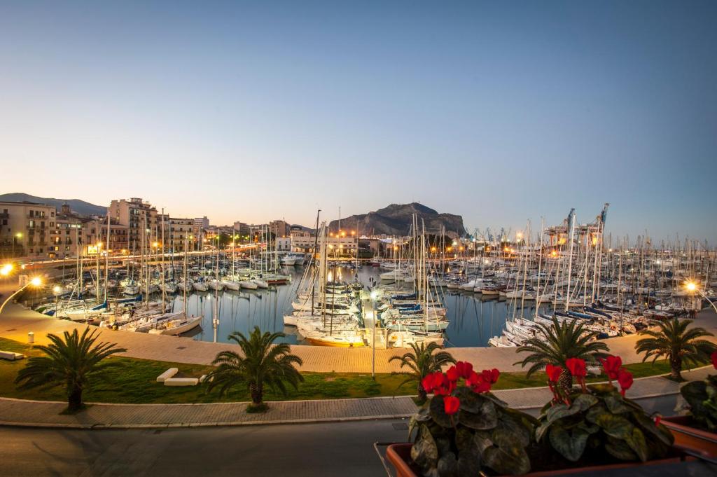
<svg viewBox="0 0 717 477"><path fill-rule="evenodd" d="M717 351L711 359L717 368ZM717 377L688 382L680 388L680 394L690 405L690 413L663 419L675 436L675 447L717 458Z"/></svg>

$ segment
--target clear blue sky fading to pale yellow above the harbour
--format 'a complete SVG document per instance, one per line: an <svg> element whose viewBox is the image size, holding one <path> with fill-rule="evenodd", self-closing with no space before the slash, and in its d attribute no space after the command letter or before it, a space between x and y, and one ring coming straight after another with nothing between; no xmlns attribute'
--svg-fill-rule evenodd
<svg viewBox="0 0 717 477"><path fill-rule="evenodd" d="M717 2L0 4L1 192L717 242Z"/></svg>

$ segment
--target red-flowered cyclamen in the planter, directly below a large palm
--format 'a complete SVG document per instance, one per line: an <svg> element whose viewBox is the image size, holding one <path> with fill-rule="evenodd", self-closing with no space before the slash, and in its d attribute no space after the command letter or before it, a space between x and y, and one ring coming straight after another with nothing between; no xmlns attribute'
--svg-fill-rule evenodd
<svg viewBox="0 0 717 477"><path fill-rule="evenodd" d="M557 385L563 367L546 367L553 400L541 411L535 432L538 447L536 468L594 470L619 468L641 463L661 463L679 456L673 436L652 419L636 402L625 397L632 386L632 374L622 367L619 356L600 359L609 384L585 384L585 362L571 358L565 369L579 387ZM613 381L619 384L619 391Z"/></svg>

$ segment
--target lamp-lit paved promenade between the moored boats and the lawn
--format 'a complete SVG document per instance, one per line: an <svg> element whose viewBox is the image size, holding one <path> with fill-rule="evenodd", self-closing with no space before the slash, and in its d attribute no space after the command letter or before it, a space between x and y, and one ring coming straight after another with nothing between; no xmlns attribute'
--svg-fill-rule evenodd
<svg viewBox="0 0 717 477"><path fill-rule="evenodd" d="M0 287L0 293L8 296L10 289L7 285ZM717 335L717 313L707 308L698 314L698 326ZM85 329L85 324L73 323L67 320L57 320L49 316L36 313L20 306L17 303L8 303L0 316L0 336L15 341L27 342L27 334L32 331L35 343L47 343L46 335L49 333L62 334L63 331L75 328ZM219 351L234 349L239 346L227 343L212 343L207 341L194 341L193 339L178 338L176 336L151 335L134 333L131 331L113 331L100 329L101 339L112 341L127 349L125 356L143 359L156 359L160 361L210 364ZM622 356L625 364L642 361L641 356L635 353L637 334L620 336L603 340L609 346L610 352ZM717 338L711 338L717 342ZM303 359L303 372L371 372L370 348L331 348L327 346L291 346L292 352ZM400 356L406 352L403 349L376 349L376 372L399 371L397 362L389 363L391 356ZM450 353L455 359L473 363L474 367L498 368L501 371L521 371L516 365L520 356L511 348L451 348Z"/></svg>

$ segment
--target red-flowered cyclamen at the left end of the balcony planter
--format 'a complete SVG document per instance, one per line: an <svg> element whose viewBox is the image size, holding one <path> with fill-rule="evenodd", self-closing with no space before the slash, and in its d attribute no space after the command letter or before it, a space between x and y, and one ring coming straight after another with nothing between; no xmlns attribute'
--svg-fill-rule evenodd
<svg viewBox="0 0 717 477"><path fill-rule="evenodd" d="M476 476L523 474L530 471L526 448L535 419L512 410L490 393L498 369L478 374L473 365L457 362L447 372L423 379L432 392L409 425L413 443L392 444L386 458L397 476Z"/></svg>

